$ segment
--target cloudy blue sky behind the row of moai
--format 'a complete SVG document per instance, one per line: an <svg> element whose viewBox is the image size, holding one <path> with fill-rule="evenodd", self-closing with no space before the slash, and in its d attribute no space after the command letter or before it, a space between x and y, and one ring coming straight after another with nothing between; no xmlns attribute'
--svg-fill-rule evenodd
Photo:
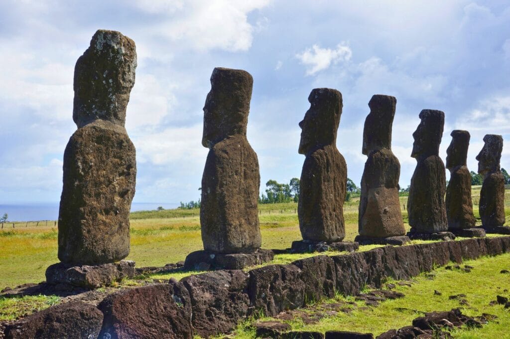
<svg viewBox="0 0 510 339"><path fill-rule="evenodd" d="M363 123L373 94L397 98L393 152L406 187L421 109L445 112L441 156L453 129L510 142L507 1L9 1L0 2L0 203L57 202L62 156L75 131L74 63L97 29L137 45L126 129L137 148L135 202L199 198L208 150L202 107L214 67L254 79L248 140L261 189L299 177L299 121L313 88L343 94L337 146L361 180ZM508 140L508 141L506 141ZM510 147L503 147L510 167ZM448 175L447 175L448 178Z"/></svg>

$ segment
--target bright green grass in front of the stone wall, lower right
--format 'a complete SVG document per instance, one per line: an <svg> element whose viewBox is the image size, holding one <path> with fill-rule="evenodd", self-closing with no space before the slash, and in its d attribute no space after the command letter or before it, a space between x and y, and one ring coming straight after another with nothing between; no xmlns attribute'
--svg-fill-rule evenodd
<svg viewBox="0 0 510 339"><path fill-rule="evenodd" d="M321 319L318 323L311 325L303 324L299 319L286 322L292 326L292 330L299 331L345 330L379 335L392 328L411 325L413 319L423 315L416 311L430 312L460 307L468 316L490 313L496 315L498 319L484 325L481 329L455 330L452 333L455 338L504 338L508 335L510 312L503 309L503 305L490 306L489 303L496 299L496 295L510 296L508 291L504 292L504 289L510 288L510 276L499 273L503 269L510 268L509 260L510 254L504 254L466 261L465 264L474 267L471 273L440 268L433 271L435 277L432 280L425 274L421 274L414 279L415 283L411 287L397 285L394 290L405 294L402 299L389 300L369 310L355 308L351 313L339 312L336 316ZM435 295L434 290L439 290L442 295ZM469 306L461 306L458 300L448 298L461 293L467 295ZM338 300L352 301L352 297L338 295L336 299L325 302ZM358 305L364 306L362 302ZM251 319L240 324L235 330L235 337L254 338L253 322L254 320Z"/></svg>

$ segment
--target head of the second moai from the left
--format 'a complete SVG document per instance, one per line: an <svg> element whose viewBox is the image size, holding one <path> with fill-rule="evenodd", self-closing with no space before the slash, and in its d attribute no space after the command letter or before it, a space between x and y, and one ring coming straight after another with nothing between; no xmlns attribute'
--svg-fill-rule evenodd
<svg viewBox="0 0 510 339"><path fill-rule="evenodd" d="M253 78L242 69L216 67L203 106L203 147L232 135L246 135Z"/></svg>

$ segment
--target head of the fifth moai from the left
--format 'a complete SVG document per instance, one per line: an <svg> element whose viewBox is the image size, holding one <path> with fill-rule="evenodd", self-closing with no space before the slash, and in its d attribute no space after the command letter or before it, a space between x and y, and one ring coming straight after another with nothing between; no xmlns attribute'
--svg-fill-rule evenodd
<svg viewBox="0 0 510 339"><path fill-rule="evenodd" d="M420 119L420 125L413 133L414 143L411 156L416 159L423 159L431 155L439 155L445 113L424 109L420 112Z"/></svg>

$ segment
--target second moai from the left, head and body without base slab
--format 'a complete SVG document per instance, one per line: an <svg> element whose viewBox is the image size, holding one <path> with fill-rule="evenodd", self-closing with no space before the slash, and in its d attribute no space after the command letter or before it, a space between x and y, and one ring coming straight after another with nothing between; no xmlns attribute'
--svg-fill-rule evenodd
<svg viewBox="0 0 510 339"><path fill-rule="evenodd" d="M202 144L209 148L202 176L203 248L247 253L260 248L259 161L246 139L253 79L240 69L215 68L203 107Z"/></svg>

